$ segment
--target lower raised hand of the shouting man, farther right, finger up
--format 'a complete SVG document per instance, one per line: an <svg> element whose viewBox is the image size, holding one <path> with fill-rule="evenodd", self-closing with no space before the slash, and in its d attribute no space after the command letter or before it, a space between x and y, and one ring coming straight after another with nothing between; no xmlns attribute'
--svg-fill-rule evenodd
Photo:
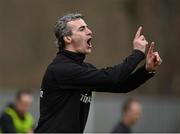
<svg viewBox="0 0 180 134"><path fill-rule="evenodd" d="M158 52L154 52L154 42L151 43L146 56L146 70L149 72L154 72L162 63L162 59Z"/></svg>

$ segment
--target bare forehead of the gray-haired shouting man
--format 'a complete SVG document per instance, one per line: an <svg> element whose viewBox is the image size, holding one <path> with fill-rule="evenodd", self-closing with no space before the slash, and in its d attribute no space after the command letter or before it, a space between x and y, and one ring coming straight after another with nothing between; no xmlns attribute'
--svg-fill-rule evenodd
<svg viewBox="0 0 180 134"><path fill-rule="evenodd" d="M72 29L77 29L81 26L87 26L86 22L83 19L77 19L77 20L73 20L67 23L67 25L69 27L71 27Z"/></svg>

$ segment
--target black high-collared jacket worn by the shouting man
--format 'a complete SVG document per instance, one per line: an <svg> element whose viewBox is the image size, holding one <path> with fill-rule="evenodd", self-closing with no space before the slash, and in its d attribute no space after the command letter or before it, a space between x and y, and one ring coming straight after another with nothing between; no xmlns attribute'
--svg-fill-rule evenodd
<svg viewBox="0 0 180 134"><path fill-rule="evenodd" d="M40 119L35 132L83 132L92 91L126 93L153 74L144 66L145 55L134 50L121 64L97 69L84 63L85 56L61 51L48 66L41 86Z"/></svg>

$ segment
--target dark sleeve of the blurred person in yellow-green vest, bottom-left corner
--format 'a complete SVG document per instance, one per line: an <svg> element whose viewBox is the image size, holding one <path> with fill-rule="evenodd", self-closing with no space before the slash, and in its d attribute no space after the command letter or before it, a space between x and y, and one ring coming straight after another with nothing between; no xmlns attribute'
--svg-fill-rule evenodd
<svg viewBox="0 0 180 134"><path fill-rule="evenodd" d="M11 117L7 114L3 114L0 119L1 131L3 133L16 133Z"/></svg>

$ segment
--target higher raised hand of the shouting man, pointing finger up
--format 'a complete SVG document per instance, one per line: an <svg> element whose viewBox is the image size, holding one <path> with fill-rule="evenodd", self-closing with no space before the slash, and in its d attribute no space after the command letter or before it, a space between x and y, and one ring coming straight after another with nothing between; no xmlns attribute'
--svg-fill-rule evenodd
<svg viewBox="0 0 180 134"><path fill-rule="evenodd" d="M141 52L145 53L148 42L146 41L144 35L141 35L141 32L142 32L142 27L140 26L134 37L133 47L134 49L140 50Z"/></svg>

